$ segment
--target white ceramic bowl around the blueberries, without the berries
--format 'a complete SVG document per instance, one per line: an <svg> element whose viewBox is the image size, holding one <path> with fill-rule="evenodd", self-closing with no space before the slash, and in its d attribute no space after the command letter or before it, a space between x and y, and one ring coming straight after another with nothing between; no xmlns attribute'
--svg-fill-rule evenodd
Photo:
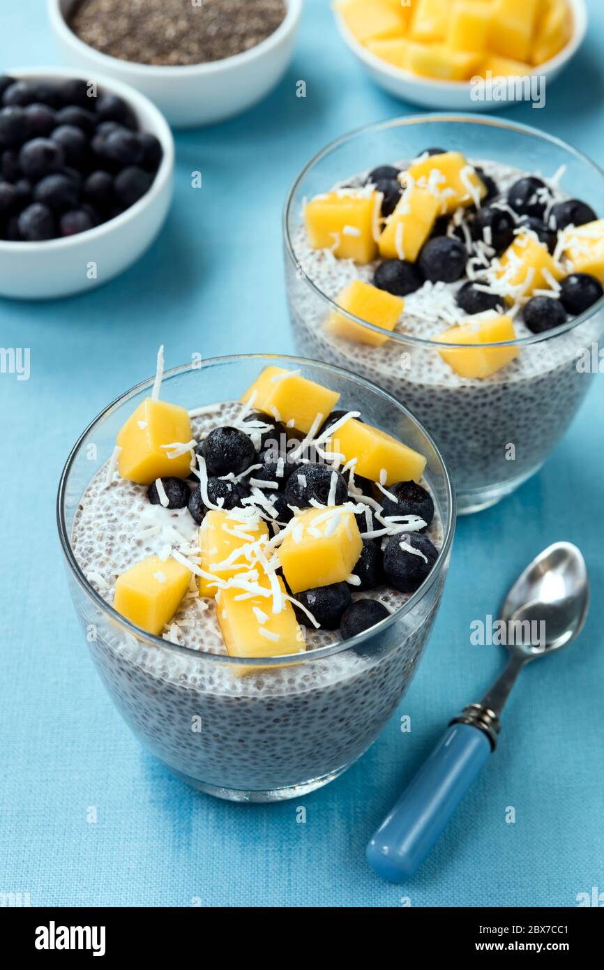
<svg viewBox="0 0 604 970"><path fill-rule="evenodd" d="M23 68L13 78L62 81L79 78L79 71L64 68ZM46 300L93 289L123 273L137 261L157 236L170 207L175 167L175 145L166 120L157 109L126 84L94 73L86 80L118 94L137 116L141 129L155 135L164 157L142 199L94 229L66 239L45 242L0 240L0 296L19 300Z"/></svg>

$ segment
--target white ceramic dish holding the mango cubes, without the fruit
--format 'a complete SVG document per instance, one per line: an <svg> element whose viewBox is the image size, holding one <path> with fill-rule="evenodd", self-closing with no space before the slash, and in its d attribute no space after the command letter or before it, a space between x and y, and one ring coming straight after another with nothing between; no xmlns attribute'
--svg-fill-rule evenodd
<svg viewBox="0 0 604 970"><path fill-rule="evenodd" d="M556 54L556 57L540 64L534 71L534 74L545 77L546 92L548 84L555 80L581 47L588 29L585 0L568 0L568 2L573 12L573 37L566 47ZM471 97L473 85L470 81L437 81L431 78L420 78L410 71L403 71L364 48L350 33L337 10L334 11L334 16L344 43L358 57L369 76L402 101L421 105L422 108L437 108L444 111L493 112L518 100L512 96L498 101L476 101Z"/></svg>

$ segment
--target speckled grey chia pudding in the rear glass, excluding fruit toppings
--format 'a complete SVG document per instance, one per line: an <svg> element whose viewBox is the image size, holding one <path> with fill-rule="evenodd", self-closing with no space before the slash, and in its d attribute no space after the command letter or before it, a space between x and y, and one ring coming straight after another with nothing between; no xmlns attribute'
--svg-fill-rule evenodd
<svg viewBox="0 0 604 970"><path fill-rule="evenodd" d="M429 154L420 156L419 162L429 155L443 157L439 152L444 149L429 149ZM374 238L379 238L381 227L388 225L384 222L385 213L395 210L399 198L396 183L393 187L393 175L399 182L398 192L406 193L405 185L409 183L405 173L417 161L397 162L392 167L374 170L375 175L363 172L347 178L326 196L319 195L311 201L328 198L333 193L364 196L367 192L381 191L381 226L377 236L374 233ZM434 157L434 164L436 161ZM465 209L436 218L414 263L404 259L401 241L395 254L397 259L374 258L366 263L334 255L341 237L335 236L332 246L317 248L316 241L315 245L311 244L307 216L304 224L308 208L305 200L301 213L292 211L288 216L294 258L286 251L288 302L298 351L363 374L426 423L451 469L461 511L492 504L539 469L587 393L588 375L577 367L578 352L582 347L591 346L604 326L603 314L597 311L576 328L560 331L558 326L572 321L574 315L597 303L602 296L599 280L573 274L573 264L565 253L565 241L575 228L569 220L574 217L578 224L583 224L595 220L596 214L584 203L569 200L561 187L564 172L558 171L553 178L540 177L530 197L526 198L525 193L521 204L515 197L517 186L522 189L523 184L530 184L535 177L484 158L468 161L469 167L484 180L486 198L475 199L467 206L468 196ZM530 219L528 213L531 213ZM493 223L495 232L500 232L501 220L504 223L507 220L503 226L506 238L502 245L495 245ZM595 221L591 224L600 226L601 237L604 225ZM353 236L359 230L345 226L343 232ZM547 283L534 292L525 284L509 286L505 275L498 281L502 253L512 248L511 243L521 236L530 245L534 242L535 245L543 243L540 248L547 246L552 265L559 270L556 279L546 274ZM428 252L436 240L448 241L445 245L451 252L444 253L441 267L436 265L434 269L429 266ZM460 251L461 271L455 267L452 270L452 260ZM437 264L438 254L435 255ZM386 274L386 270L392 272ZM580 299L578 305L573 303L572 293L565 300L569 285L577 278L584 285L587 280L589 290L587 298ZM346 292L345 287L354 280L403 298L404 308L394 325L394 338L373 346L368 340L334 332L330 326L334 307L322 295L354 314L340 299ZM308 281L314 286L308 285ZM483 320L489 313L507 314L513 320L513 326L510 325L514 336L499 337L493 342L510 339L532 339L533 342L521 344L514 359L485 376L462 375L443 359L435 341L447 331L446 339L455 343L454 328L468 321ZM377 323L376 320L369 322ZM551 333L546 333L550 330ZM405 339L407 336L409 340Z"/></svg>

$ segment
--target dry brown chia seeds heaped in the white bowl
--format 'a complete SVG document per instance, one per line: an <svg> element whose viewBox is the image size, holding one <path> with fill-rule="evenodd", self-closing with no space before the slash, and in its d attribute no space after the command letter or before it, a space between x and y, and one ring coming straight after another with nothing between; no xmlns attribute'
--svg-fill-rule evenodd
<svg viewBox="0 0 604 970"><path fill-rule="evenodd" d="M176 67L254 48L285 14L284 0L79 0L68 24L111 57Z"/></svg>

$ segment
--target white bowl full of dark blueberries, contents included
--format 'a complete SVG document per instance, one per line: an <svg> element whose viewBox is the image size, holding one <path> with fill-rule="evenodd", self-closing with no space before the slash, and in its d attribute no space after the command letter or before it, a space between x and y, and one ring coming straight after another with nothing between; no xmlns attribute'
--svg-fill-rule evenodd
<svg viewBox="0 0 604 970"><path fill-rule="evenodd" d="M126 270L166 218L174 157L165 118L126 84L0 76L0 296L70 296Z"/></svg>

